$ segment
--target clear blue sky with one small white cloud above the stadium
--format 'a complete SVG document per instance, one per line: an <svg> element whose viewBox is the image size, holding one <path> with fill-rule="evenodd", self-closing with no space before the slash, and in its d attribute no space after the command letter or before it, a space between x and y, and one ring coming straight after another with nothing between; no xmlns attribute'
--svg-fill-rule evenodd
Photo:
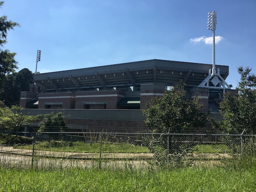
<svg viewBox="0 0 256 192"><path fill-rule="evenodd" d="M18 70L40 73L148 59L212 64L207 14L217 13L215 62L256 71L256 0L5 0L0 15L20 23L5 45ZM17 71L18 71L17 70Z"/></svg>

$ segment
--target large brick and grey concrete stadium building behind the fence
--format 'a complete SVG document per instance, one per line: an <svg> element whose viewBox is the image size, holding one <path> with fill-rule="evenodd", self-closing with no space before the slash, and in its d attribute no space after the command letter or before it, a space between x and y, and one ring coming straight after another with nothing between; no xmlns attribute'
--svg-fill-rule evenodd
<svg viewBox="0 0 256 192"><path fill-rule="evenodd" d="M41 112L70 111L74 125L113 126L113 121L117 121L116 126L121 122L145 126L141 110L145 109L146 103L154 96L163 96L179 81L186 83L187 97L193 99L197 95L201 98L205 112L218 112L218 102L230 87L224 81L229 67L216 65L216 68L218 77L212 79L211 64L158 59L38 73L34 74L35 84L31 85L30 91L20 93L20 105ZM205 81L207 77L209 81Z"/></svg>

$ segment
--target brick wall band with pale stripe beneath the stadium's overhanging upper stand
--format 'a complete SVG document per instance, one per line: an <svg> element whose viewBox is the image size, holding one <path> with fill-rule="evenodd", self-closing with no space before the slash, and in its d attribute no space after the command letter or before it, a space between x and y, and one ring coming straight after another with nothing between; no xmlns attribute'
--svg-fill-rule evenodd
<svg viewBox="0 0 256 192"><path fill-rule="evenodd" d="M54 92L54 93L31 93L21 92L20 105L27 108L27 103L38 99L38 109L140 109L146 108L146 104L153 97L161 97L166 91L164 84L141 84L140 91L123 92L119 90L95 90L77 92ZM203 111L208 111L208 89L193 87L187 90L187 96L193 99L200 98L200 103L204 106ZM138 107L127 105L120 106L118 103L122 99L136 99ZM132 102L132 101L131 101Z"/></svg>

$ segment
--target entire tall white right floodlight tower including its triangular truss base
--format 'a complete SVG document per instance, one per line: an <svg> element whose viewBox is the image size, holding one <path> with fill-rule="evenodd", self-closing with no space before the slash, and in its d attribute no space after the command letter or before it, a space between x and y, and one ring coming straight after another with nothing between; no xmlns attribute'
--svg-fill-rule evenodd
<svg viewBox="0 0 256 192"><path fill-rule="evenodd" d="M212 30L212 70L209 69L207 78L204 79L198 87L207 87L212 89L223 89L225 93L226 89L230 89L230 85L221 77L220 70L215 68L215 29L216 29L216 12L212 11L208 13L208 25L207 29Z"/></svg>

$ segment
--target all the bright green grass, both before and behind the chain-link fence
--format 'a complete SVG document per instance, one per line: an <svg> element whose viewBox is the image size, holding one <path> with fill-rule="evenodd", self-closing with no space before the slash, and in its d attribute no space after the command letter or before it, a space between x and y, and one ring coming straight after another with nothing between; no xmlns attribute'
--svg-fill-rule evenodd
<svg viewBox="0 0 256 192"><path fill-rule="evenodd" d="M16 145L16 148L32 149L32 145ZM99 143L41 142L36 150L99 153ZM146 153L148 148L140 145L102 143L104 153ZM193 153L229 153L226 145L197 145ZM49 159L50 160L50 159ZM53 161L52 161L53 162ZM113 161L114 162L114 161ZM210 161L209 161L210 162ZM98 162L96 162L98 163ZM1 164L1 162L0 162ZM16 168L15 168L16 167ZM209 166L189 164L178 168L163 169L149 164L134 168L125 162L122 169L109 166L99 169L60 166L18 169L20 166L0 166L0 192L12 191L77 191L77 192L251 192L256 191L256 158L223 159Z"/></svg>

